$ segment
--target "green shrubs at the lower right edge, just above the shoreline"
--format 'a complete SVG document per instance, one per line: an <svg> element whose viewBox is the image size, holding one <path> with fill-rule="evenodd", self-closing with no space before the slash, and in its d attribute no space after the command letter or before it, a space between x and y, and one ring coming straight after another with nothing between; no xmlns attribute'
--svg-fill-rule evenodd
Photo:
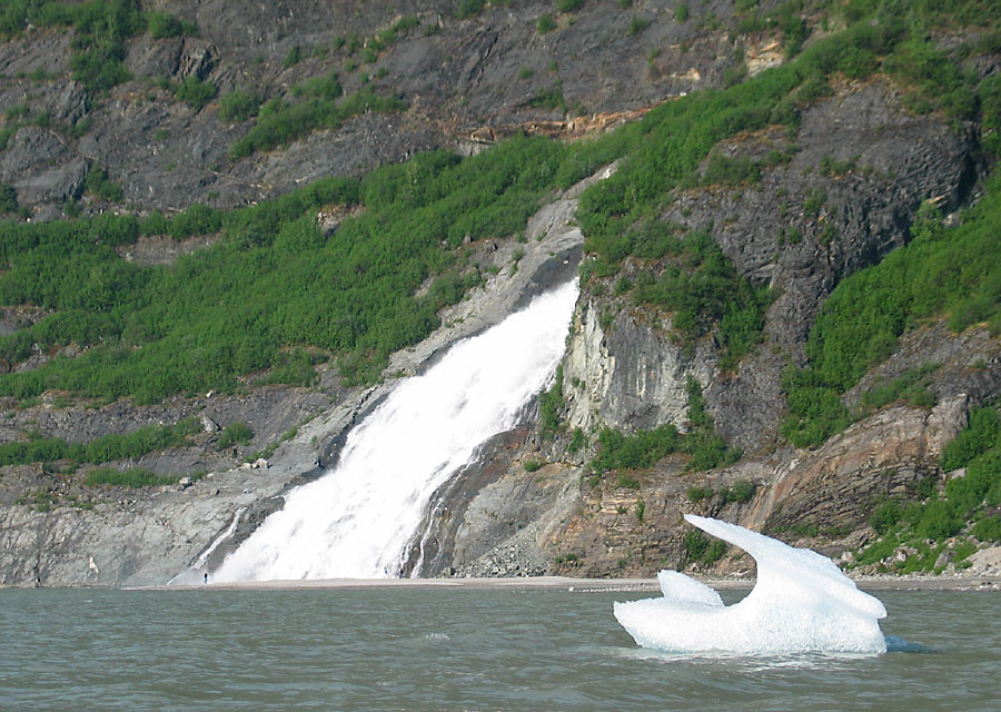
<svg viewBox="0 0 1001 712"><path fill-rule="evenodd" d="M880 540L862 550L856 565L880 563L900 547L913 552L904 562L894 562L900 572L932 571L947 548L947 540L957 537L953 561L972 554L970 535L981 542L1001 541L1001 413L994 406L982 407L970 415L969 426L942 452L942 468L954 473L943 490L929 477L916 483L904 500L879 503L870 524Z"/></svg>

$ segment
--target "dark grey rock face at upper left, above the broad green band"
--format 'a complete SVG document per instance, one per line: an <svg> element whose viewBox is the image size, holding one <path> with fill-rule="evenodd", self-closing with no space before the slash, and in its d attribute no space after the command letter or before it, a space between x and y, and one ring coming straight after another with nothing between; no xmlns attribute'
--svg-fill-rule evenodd
<svg viewBox="0 0 1001 712"><path fill-rule="evenodd" d="M552 2L487 8L466 19L456 18L457 2L442 0L392 8L349 0L143 7L196 22L199 37L129 39L125 61L135 79L102 97L88 96L71 78L72 31L34 30L0 42L0 112L21 105L28 112L0 150L0 181L16 188L32 219L62 217L63 204L78 199L85 212L112 209L83 194L92 167L121 185L131 210L169 212L192 202L229 208L323 176L361 175L415 151L468 149L523 127L549 132L559 125L555 132L564 134L571 115L613 125L671 97L717 86L735 62L723 33L696 21L675 22L666 1L628 10L584 3L557 14L558 29L542 34L536 18L552 12ZM708 12L725 21L733 7L714 1L693 9L695 17ZM344 48L347 38L364 44L405 16L418 26L374 55L363 58L358 49L349 56ZM630 29L634 16L651 21L640 33ZM32 78L39 72L43 79ZM220 118L222 96L249 88L266 99L295 100L296 82L330 72L345 93L398 95L409 108L365 113L337 130L229 157L254 121ZM219 96L191 108L163 88L188 78L211 82ZM36 126L39 116L49 120Z"/></svg>

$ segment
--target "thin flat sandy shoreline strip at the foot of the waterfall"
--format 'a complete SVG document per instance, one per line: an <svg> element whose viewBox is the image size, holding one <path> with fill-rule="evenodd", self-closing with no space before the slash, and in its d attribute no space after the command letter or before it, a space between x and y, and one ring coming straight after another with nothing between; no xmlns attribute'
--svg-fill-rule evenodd
<svg viewBox="0 0 1001 712"><path fill-rule="evenodd" d="M717 591L750 591L753 578L700 578ZM852 578L864 591L1001 591L1001 576L859 576ZM535 576L519 578L314 578L297 581L247 581L184 586L129 586L123 591L301 591L365 589L462 589L472 591L566 590L571 593L658 592L655 578L572 578Z"/></svg>

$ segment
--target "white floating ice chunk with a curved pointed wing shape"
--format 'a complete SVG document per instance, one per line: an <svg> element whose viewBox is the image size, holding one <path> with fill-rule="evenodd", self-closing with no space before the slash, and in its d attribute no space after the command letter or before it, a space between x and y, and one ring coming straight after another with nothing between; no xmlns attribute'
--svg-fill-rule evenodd
<svg viewBox="0 0 1001 712"><path fill-rule="evenodd" d="M734 605L676 571L657 575L663 597L615 604L615 617L643 647L668 652L886 652L886 609L859 591L831 560L735 524L685 520L740 546L757 562L757 583Z"/></svg>

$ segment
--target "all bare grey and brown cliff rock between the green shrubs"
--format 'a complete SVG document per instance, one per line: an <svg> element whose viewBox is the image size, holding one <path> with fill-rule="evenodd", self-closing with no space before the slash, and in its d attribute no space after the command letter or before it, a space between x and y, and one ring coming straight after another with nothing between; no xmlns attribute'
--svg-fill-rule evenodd
<svg viewBox="0 0 1001 712"><path fill-rule="evenodd" d="M72 29L29 27L0 44L7 141L0 184L16 199L10 219L169 216L192 204L228 209L325 176L361 176L426 149L478 154L522 131L586 142L665 101L784 65L800 27L782 14L789 3L737 3L749 10L714 0L692 3L692 18L685 6L684 19L678 3L652 0L588 0L565 12L552 2L434 0L392 9L310 0L142 4L198 31L128 37L122 62L131 78L105 91L75 76ZM805 6L809 51L840 27L826 22L822 8ZM962 34L934 41L954 49ZM999 66L994 52L979 51L967 69L989 78ZM258 103L297 100L309 91L306 82L331 72L346 97L369 91L402 103L249 155L234 151L258 121L234 119L226 97L247 91ZM186 101L178 89L186 82L210 85L215 93ZM829 296L905 246L923 204L936 206L939 222L959 225L961 209L985 190L987 119L919 111L913 96L899 72L832 71L823 91L796 103L794 125L764 122L716 141L646 218L678 234L707 233L739 277L771 289L759 342L732 364L718 329L685 336L672 312L631 298L648 260L626 256L612 277L592 278L567 336L558 422L535 413L484 444L478 461L436 494L408 573L617 576L663 566L750 573L749 560L711 554L707 542L686 534L685 512L739 522L849 563L879 538L878 505L914 498L929 482L944 492L943 448L974 408L1001 394L1001 345L983 323L955 332L948 314L924 319L840 396L859 408L880 384L933 364L922 382L926 403L895 399L859 411L853 425L814 447L795 448L782 433L783 374L810 364L811 330ZM724 164L757 172L753 180L713 178ZM582 191L614 169L549 195L524 241L467 236L463 249L488 277L439 315L443 326L430 337L394 354L376 385L349 385L328 363L316 367L308 387L246 379L236 393L184 394L153 405L58 390L4 399L0 444L87 444L191 417L198 432L111 463L172 476L176 484L89 485L59 459L0 468L0 585L142 585L190 566L211 568L281 506L284 492L336 461L347 429L396 378L572 274L584 251L574 217ZM101 175L120 187L118 195L100 189L93 177ZM328 234L336 231L340 216L317 217ZM119 254L169 266L219 239L145 236ZM44 316L38 305L4 305L0 329L16 334ZM27 373L83 350L37 347L3 366ZM739 458L696 471L677 451L650 466L595 469L605 429L627 436L671 425L682 437L696 429L693 384L711 429ZM249 426L250 438L226 437L234 424Z"/></svg>

